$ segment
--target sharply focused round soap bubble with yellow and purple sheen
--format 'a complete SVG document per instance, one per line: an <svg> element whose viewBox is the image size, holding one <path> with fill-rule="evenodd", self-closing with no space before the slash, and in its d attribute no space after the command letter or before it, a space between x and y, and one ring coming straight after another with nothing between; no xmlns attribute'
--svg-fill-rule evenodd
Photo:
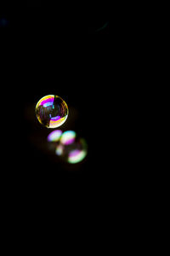
<svg viewBox="0 0 170 256"><path fill-rule="evenodd" d="M66 102L59 96L44 96L37 102L37 119L40 124L48 128L63 125L68 117L68 112Z"/></svg>

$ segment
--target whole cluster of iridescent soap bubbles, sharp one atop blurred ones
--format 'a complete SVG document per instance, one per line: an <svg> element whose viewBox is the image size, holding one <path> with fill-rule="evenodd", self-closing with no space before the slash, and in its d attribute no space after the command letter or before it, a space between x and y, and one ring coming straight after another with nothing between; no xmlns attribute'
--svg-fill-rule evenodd
<svg viewBox="0 0 170 256"><path fill-rule="evenodd" d="M54 95L42 97L36 105L36 115L40 124L48 128L56 128L65 123L68 107L65 101ZM48 150L54 152L58 160L70 164L81 162L88 154L88 145L76 131L54 130L48 134Z"/></svg>

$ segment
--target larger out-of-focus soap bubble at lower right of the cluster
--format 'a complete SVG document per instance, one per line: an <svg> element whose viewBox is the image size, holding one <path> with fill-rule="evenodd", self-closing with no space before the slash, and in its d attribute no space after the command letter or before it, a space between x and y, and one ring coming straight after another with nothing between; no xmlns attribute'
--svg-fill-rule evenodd
<svg viewBox="0 0 170 256"><path fill-rule="evenodd" d="M77 137L75 131L65 131L60 137L55 154L70 164L76 164L88 154L88 145L83 138Z"/></svg>

